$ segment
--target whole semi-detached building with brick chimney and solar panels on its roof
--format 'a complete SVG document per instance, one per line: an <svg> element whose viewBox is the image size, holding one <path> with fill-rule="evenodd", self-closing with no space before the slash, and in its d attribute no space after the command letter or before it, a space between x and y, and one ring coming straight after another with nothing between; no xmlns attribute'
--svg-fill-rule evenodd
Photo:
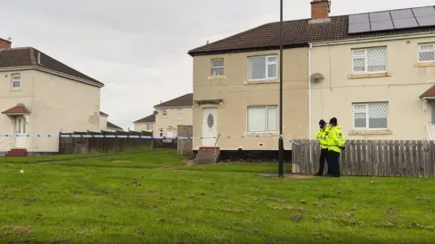
<svg viewBox="0 0 435 244"><path fill-rule="evenodd" d="M348 138L429 136L434 7L329 16L331 1L314 0L311 10L309 19L284 22L285 150L292 139L313 138L318 121L330 117ZM266 23L189 51L193 136L225 137L221 152L277 149L279 26ZM215 143L205 138L193 147Z"/></svg>

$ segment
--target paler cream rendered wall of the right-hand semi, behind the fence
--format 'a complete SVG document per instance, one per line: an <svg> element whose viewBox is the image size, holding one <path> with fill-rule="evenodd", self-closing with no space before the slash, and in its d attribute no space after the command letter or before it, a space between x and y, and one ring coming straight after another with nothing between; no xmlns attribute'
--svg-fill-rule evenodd
<svg viewBox="0 0 435 244"><path fill-rule="evenodd" d="M415 68L420 42L435 42L435 37L402 39L314 47L312 71L324 74L313 85L314 130L319 119L337 117L349 139L425 139L430 107L423 111L420 95L435 82L435 67ZM354 48L386 46L388 76L350 79ZM387 131L354 131L353 103L388 102Z"/></svg>

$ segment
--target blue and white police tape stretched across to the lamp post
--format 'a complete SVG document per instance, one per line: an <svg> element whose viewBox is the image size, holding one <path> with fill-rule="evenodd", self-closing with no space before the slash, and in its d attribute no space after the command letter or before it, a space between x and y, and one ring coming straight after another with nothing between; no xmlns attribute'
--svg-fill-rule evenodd
<svg viewBox="0 0 435 244"><path fill-rule="evenodd" d="M172 139L172 140L202 140L202 139L226 139L226 138L261 138L279 137L276 135L246 135L246 136L210 136L210 137L191 137L191 136L134 136L134 135L88 135L88 134L0 134L0 137L63 137L63 138L140 138L140 139Z"/></svg>

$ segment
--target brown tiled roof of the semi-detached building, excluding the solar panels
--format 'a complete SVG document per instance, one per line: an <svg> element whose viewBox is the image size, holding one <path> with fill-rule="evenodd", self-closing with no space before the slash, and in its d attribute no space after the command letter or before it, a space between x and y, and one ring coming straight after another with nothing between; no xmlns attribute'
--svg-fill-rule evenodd
<svg viewBox="0 0 435 244"><path fill-rule="evenodd" d="M389 36L405 33L426 33L435 31L435 26L392 30L373 33L348 33L349 15L331 16L330 22L309 23L310 19L286 21L284 26L284 45L286 48L307 46L310 42L331 42L364 37ZM279 48L279 22L266 23L243 33L227 37L218 42L190 50L189 54L205 55L225 52L247 52Z"/></svg>

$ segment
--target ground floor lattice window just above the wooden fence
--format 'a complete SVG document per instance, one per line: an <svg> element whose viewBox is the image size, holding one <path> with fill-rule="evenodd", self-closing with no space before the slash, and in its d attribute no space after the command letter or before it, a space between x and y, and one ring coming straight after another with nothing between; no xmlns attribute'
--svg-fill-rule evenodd
<svg viewBox="0 0 435 244"><path fill-rule="evenodd" d="M353 128L355 129L388 129L388 103L354 103Z"/></svg>

